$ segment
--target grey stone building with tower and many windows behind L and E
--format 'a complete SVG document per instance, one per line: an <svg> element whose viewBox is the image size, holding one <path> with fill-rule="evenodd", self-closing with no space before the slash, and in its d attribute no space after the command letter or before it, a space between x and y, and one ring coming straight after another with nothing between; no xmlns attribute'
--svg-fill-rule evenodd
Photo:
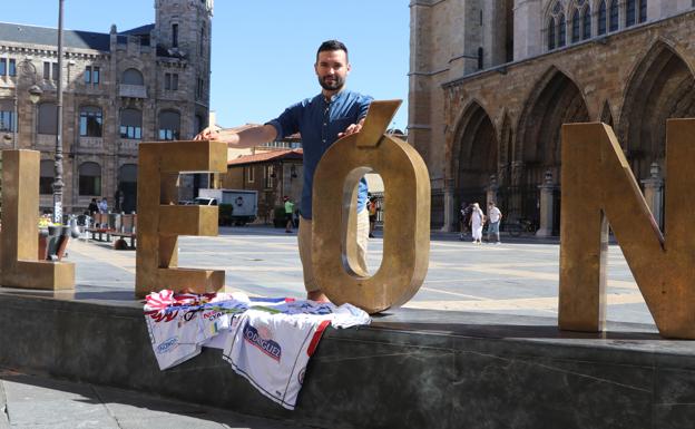
<svg viewBox="0 0 695 429"><path fill-rule="evenodd" d="M207 124L213 1L154 4L151 25L65 31L65 213L102 196L135 211L138 144L188 139ZM52 207L57 40L56 29L0 22L0 148L41 152L42 208Z"/></svg>

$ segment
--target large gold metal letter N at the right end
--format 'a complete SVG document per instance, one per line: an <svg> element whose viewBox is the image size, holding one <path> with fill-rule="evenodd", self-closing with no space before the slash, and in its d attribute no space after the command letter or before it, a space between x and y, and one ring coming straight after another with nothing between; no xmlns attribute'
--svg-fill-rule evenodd
<svg viewBox="0 0 695 429"><path fill-rule="evenodd" d="M695 339L694 136L668 120L665 240L613 129L562 126L560 329L604 329L607 217L660 334Z"/></svg>

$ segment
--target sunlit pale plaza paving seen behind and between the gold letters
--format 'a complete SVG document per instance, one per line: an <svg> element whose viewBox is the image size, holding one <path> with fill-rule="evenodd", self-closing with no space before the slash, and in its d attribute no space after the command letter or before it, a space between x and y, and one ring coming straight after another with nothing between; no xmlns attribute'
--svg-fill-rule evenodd
<svg viewBox="0 0 695 429"><path fill-rule="evenodd" d="M221 227L219 233L180 237L179 266L224 270L229 289L249 295L304 296L295 234L253 226ZM381 262L381 236L378 232L370 240L372 272ZM78 290L90 285L129 296L135 284L134 251L71 241L68 260L77 263ZM521 237L501 245L474 245L456 234L434 233L427 279L405 306L556 318L558 266L557 241ZM607 319L654 323L617 245L609 247Z"/></svg>

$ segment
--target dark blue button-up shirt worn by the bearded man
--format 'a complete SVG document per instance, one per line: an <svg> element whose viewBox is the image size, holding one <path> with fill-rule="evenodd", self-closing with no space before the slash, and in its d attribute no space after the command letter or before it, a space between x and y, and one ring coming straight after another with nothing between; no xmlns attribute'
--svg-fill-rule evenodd
<svg viewBox="0 0 695 429"><path fill-rule="evenodd" d="M351 124L356 124L366 116L372 97L342 90L325 100L322 94L314 98L300 101L283 111L277 118L267 124L275 127L277 137L287 137L294 133L302 134L304 148L304 183L302 188L302 217L312 218L312 189L314 172L323 154L337 140L337 134L343 133ZM366 206L366 181L360 181L358 192L358 212Z"/></svg>

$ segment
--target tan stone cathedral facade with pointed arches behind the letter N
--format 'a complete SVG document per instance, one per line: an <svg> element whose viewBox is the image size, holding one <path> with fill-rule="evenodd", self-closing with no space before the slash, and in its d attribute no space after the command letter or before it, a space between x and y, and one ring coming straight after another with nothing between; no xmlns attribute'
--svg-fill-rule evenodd
<svg viewBox="0 0 695 429"><path fill-rule="evenodd" d="M559 227L560 127L614 127L660 216L666 119L695 116L692 0L413 0L410 142L433 226L497 199Z"/></svg>

